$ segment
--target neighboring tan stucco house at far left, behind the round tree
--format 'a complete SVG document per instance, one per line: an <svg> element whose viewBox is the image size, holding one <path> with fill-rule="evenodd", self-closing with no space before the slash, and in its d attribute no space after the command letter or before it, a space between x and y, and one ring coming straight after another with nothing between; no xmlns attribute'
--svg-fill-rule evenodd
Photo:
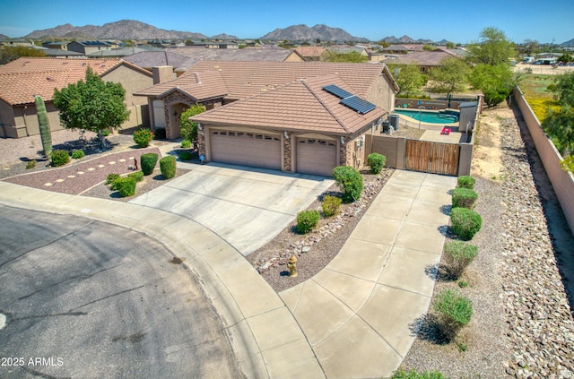
<svg viewBox="0 0 574 379"><path fill-rule="evenodd" d="M0 65L0 137L22 138L39 134L34 96L46 102L50 127L61 129L59 112L52 103L54 89L85 79L86 68L106 82L121 83L126 90L129 120L122 125L149 125L147 101L132 94L152 85L152 73L119 60L21 57Z"/></svg>

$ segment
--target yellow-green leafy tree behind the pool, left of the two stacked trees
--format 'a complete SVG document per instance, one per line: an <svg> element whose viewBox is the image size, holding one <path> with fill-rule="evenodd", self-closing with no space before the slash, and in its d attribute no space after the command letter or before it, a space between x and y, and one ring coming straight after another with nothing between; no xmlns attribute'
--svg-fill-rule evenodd
<svg viewBox="0 0 574 379"><path fill-rule="evenodd" d="M470 67L455 56L444 58L440 65L433 68L429 73L431 91L450 95L453 92L461 92L466 89Z"/></svg>

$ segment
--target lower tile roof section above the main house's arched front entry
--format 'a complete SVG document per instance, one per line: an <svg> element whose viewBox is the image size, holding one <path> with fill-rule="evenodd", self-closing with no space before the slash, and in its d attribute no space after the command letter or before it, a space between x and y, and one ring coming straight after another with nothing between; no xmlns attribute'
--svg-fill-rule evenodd
<svg viewBox="0 0 574 379"><path fill-rule="evenodd" d="M219 71L188 71L179 76L178 79L156 84L145 90L139 90L134 95L155 96L161 99L174 91L185 93L197 101L222 98L229 93Z"/></svg>

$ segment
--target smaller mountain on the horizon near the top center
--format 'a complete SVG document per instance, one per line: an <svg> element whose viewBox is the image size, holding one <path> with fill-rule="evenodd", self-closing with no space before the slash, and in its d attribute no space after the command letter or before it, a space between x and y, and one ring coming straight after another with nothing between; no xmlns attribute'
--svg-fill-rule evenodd
<svg viewBox="0 0 574 379"><path fill-rule="evenodd" d="M347 33L345 30L340 28L331 28L326 25L318 24L312 28L309 26L292 25L285 29L275 29L270 33L265 34L261 39L267 40L306 40L306 41L316 41L317 39L321 41L356 41L356 42L368 42L369 39L362 39L359 37L353 37L351 34Z"/></svg>

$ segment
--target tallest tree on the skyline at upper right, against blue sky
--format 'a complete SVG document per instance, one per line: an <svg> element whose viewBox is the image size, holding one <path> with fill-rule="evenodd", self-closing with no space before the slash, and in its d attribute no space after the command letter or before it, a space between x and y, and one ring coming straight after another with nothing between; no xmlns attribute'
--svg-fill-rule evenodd
<svg viewBox="0 0 574 379"><path fill-rule="evenodd" d="M516 56L512 42L502 30L488 27L481 31L479 42L468 46L468 59L474 64L509 64L509 58Z"/></svg>

